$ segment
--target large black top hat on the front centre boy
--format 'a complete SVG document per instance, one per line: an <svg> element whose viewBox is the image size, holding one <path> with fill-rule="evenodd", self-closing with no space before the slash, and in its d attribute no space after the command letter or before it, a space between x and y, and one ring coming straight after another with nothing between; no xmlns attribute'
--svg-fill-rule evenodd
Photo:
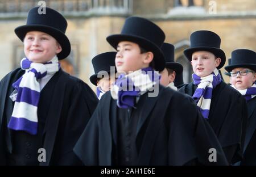
<svg viewBox="0 0 256 177"><path fill-rule="evenodd" d="M120 41L131 41L143 49L154 53L155 70L164 69L164 55L160 47L166 36L162 29L150 20L132 16L125 20L121 34L110 35L106 38L115 49Z"/></svg>

